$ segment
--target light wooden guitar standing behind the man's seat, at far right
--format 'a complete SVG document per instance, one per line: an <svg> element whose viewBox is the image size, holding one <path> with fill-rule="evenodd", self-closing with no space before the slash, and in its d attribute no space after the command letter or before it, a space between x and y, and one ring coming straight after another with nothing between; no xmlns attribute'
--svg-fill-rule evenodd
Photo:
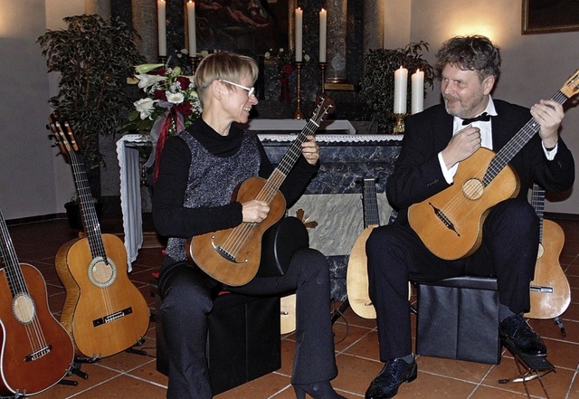
<svg viewBox="0 0 579 399"><path fill-rule="evenodd" d="M536 255L535 277L531 281L531 310L526 318L556 318L571 303L571 289L559 263L565 243L565 233L557 223L544 219L545 190L533 185L531 204L539 217L539 250Z"/></svg>

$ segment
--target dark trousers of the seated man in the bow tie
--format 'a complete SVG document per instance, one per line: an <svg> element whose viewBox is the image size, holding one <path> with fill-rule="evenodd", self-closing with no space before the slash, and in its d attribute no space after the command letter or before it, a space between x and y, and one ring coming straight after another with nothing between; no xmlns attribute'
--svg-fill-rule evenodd
<svg viewBox="0 0 579 399"><path fill-rule="evenodd" d="M407 225L375 228L366 241L369 295L375 305L380 360L413 352L408 281L461 275L496 277L498 300L515 313L528 311L539 241L539 221L525 200L509 199L490 211L482 244L467 258L444 261L428 251Z"/></svg>

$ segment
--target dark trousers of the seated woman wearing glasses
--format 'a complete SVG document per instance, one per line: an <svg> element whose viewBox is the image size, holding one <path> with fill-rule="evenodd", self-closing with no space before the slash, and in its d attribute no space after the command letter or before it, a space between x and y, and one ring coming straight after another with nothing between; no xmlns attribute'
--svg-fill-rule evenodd
<svg viewBox="0 0 579 399"><path fill-rule="evenodd" d="M213 397L205 357L207 316L221 284L196 267L181 263L164 267L159 278L163 333L169 352L167 398ZM229 291L273 296L296 290L296 351L292 384L327 381L337 375L329 311L329 268L326 257L313 249L294 253L280 277L256 277Z"/></svg>

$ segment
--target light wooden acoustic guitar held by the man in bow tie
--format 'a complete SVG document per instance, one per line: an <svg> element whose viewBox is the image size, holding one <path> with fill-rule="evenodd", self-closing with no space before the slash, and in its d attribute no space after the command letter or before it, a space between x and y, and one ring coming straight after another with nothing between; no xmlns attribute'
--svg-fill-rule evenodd
<svg viewBox="0 0 579 399"><path fill-rule="evenodd" d="M579 70L551 100L563 104L578 91ZM497 153L479 148L460 162L453 185L410 206L408 221L434 255L451 261L479 248L482 224L490 208L518 193L518 177L508 162L539 128L531 118Z"/></svg>

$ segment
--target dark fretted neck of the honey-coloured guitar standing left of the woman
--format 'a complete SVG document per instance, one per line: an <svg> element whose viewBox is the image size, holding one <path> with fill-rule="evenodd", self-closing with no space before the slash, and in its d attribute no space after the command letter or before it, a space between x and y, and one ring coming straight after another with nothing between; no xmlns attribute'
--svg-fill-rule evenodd
<svg viewBox="0 0 579 399"><path fill-rule="evenodd" d="M90 254L93 258L102 257L103 259L107 259L100 233L99 218L92 200L89 179L87 178L84 163L77 153L71 152L70 156L74 185L76 185L77 194L79 195L81 204L82 225L87 240L89 241Z"/></svg>

